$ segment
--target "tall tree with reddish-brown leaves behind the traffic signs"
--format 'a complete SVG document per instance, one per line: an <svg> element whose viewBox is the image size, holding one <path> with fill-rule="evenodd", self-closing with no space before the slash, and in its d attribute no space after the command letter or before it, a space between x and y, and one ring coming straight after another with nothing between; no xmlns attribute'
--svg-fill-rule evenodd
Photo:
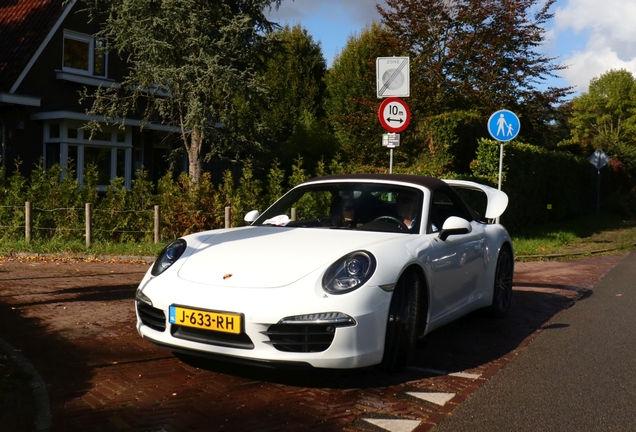
<svg viewBox="0 0 636 432"><path fill-rule="evenodd" d="M501 109L540 130L570 88L538 88L564 66L538 52L555 0L387 0L385 26L411 57L412 109L421 116ZM485 123L484 123L485 124ZM532 137L536 138L536 137Z"/></svg>

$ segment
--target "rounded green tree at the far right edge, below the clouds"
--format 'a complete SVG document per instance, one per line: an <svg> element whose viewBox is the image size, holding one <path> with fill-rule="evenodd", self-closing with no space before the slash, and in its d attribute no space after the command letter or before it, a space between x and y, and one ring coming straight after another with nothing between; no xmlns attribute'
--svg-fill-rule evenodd
<svg viewBox="0 0 636 432"><path fill-rule="evenodd" d="M636 170L636 79L625 69L610 70L590 81L572 100L572 136L585 153L597 148Z"/></svg>

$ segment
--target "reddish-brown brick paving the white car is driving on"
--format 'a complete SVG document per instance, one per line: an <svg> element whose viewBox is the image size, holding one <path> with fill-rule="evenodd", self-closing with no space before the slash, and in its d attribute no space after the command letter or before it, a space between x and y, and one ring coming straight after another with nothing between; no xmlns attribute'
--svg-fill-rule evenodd
<svg viewBox="0 0 636 432"><path fill-rule="evenodd" d="M52 431L381 431L385 419L424 431L622 257L517 263L509 317L475 313L434 332L413 366L394 375L179 359L134 329L146 263L3 260L0 338L43 377ZM422 399L434 394L451 396ZM3 427L24 427L11 414L0 410Z"/></svg>

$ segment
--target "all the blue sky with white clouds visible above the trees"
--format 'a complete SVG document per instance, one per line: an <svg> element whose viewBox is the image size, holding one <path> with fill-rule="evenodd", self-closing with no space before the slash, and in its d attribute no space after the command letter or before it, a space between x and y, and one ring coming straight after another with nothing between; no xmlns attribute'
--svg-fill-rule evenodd
<svg viewBox="0 0 636 432"><path fill-rule="evenodd" d="M384 0L379 0L384 4ZM375 0L283 0L270 18L300 24L320 42L328 66L352 34L379 21ZM590 79L610 69L636 76L636 0L557 0L546 28L544 52L568 65L548 85L587 91Z"/></svg>

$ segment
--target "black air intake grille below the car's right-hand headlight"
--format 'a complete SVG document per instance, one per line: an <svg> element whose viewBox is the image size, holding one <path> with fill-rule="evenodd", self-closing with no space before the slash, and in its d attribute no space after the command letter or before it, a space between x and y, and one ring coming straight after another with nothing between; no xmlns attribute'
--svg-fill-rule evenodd
<svg viewBox="0 0 636 432"><path fill-rule="evenodd" d="M336 335L333 324L274 324L263 332L278 351L325 351Z"/></svg>

